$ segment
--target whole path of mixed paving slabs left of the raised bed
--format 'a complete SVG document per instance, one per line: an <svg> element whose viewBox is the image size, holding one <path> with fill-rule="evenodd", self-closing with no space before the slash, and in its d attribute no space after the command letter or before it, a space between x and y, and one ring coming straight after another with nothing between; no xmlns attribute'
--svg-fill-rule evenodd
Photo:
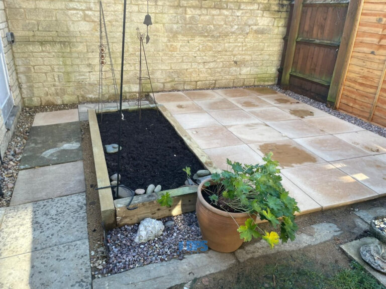
<svg viewBox="0 0 386 289"><path fill-rule="evenodd" d="M36 114L20 168L0 208L0 288L91 288L78 111Z"/></svg>

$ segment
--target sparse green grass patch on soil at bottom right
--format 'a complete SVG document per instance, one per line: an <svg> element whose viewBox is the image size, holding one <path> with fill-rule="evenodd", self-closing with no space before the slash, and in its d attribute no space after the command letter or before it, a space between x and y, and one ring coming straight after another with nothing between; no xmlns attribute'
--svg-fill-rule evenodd
<svg viewBox="0 0 386 289"><path fill-rule="evenodd" d="M287 260L282 264L267 264L260 270L244 268L234 277L236 280L233 279L232 284L220 281L215 287L218 289L386 289L356 262L351 262L349 268L342 268L335 264L327 266L315 264L305 259ZM192 287L195 288L195 286Z"/></svg>

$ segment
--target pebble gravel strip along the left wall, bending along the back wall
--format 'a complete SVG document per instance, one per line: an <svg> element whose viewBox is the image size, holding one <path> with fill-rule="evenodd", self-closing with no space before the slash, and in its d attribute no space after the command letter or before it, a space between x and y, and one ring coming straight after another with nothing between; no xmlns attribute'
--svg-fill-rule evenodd
<svg viewBox="0 0 386 289"><path fill-rule="evenodd" d="M19 163L24 152L30 127L34 121L35 114L55 110L67 110L77 108L77 104L23 107L16 125L14 134L4 153L3 164L0 166L0 184L3 196L0 196L0 207L8 207L14 192L15 182L19 174Z"/></svg>

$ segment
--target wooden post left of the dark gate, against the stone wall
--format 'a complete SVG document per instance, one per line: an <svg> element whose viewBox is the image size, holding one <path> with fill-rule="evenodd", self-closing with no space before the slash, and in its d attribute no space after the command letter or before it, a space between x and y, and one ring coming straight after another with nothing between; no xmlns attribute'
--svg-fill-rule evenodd
<svg viewBox="0 0 386 289"><path fill-rule="evenodd" d="M287 50L283 65L283 73L281 77L281 86L283 89L288 89L289 73L291 73L294 62L296 40L299 34L300 20L302 19L302 9L304 0L295 0L294 10L292 13L291 30L289 30Z"/></svg>

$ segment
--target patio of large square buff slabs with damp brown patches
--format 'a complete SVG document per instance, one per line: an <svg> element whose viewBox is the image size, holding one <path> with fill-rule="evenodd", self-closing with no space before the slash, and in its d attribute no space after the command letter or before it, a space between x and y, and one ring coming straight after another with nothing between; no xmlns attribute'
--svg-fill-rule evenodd
<svg viewBox="0 0 386 289"><path fill-rule="evenodd" d="M269 88L155 95L220 169L273 153L301 213L386 194L386 138Z"/></svg>

